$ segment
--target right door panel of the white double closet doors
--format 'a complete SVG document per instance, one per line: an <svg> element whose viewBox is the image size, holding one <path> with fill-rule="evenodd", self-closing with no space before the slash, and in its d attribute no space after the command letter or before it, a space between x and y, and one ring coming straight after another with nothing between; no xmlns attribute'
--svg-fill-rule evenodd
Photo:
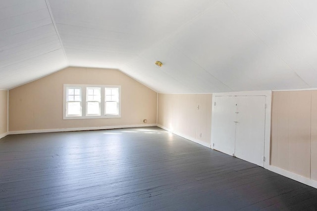
<svg viewBox="0 0 317 211"><path fill-rule="evenodd" d="M265 96L237 96L235 156L264 167Z"/></svg>

